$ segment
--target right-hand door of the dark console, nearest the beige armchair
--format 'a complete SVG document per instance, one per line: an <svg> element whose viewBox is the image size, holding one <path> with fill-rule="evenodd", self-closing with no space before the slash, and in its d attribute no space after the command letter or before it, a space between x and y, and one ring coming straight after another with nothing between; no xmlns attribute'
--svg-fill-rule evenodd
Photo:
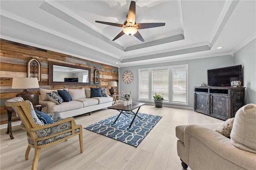
<svg viewBox="0 0 256 170"><path fill-rule="evenodd" d="M230 117L230 96L210 94L210 115L227 120Z"/></svg>

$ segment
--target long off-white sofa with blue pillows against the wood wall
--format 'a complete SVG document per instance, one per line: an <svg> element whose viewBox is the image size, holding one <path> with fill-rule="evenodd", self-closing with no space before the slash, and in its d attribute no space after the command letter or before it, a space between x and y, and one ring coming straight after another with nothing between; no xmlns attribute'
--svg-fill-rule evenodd
<svg viewBox="0 0 256 170"><path fill-rule="evenodd" d="M46 96L46 93L53 91L57 92L58 89L40 89L39 104L46 105L42 108L42 112L51 113L54 111L60 112L63 118L74 117L77 115L82 115L84 113L91 113L99 109L104 109L112 105L113 98L107 97L90 97L90 89L65 89L70 93L72 101L62 102L61 104L56 104L50 101ZM59 89L63 90L63 89Z"/></svg>

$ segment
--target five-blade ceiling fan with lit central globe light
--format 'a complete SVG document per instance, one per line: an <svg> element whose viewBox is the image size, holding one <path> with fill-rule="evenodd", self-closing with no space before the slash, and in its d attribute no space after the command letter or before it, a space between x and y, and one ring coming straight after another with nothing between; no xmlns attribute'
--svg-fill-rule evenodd
<svg viewBox="0 0 256 170"><path fill-rule="evenodd" d="M136 4L134 1L131 1L130 8L129 8L128 15L127 15L127 20L124 22L124 24L117 24L117 23L103 22L103 21L95 21L95 22L98 22L100 24L106 24L106 25L110 25L110 26L124 28L124 30L122 30L112 41L120 38L124 34L127 34L129 36L134 35L141 42L144 42L144 39L138 32L138 29L165 26L165 23L140 23L140 24L137 24L135 22L135 10L136 10Z"/></svg>

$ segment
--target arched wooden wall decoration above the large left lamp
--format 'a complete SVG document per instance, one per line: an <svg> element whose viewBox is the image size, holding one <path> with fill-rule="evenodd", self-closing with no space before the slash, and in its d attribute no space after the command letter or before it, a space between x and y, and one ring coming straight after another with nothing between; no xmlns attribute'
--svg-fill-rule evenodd
<svg viewBox="0 0 256 170"><path fill-rule="evenodd" d="M37 71L36 71L37 69ZM41 81L41 65L37 59L30 59L28 61L28 77L38 78Z"/></svg>

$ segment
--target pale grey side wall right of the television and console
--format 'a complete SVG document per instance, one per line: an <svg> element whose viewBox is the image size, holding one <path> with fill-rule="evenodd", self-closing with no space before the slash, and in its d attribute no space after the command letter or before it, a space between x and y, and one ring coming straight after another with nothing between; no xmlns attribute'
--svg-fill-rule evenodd
<svg viewBox="0 0 256 170"><path fill-rule="evenodd" d="M245 103L256 104L256 39L234 53L234 65L238 64L244 67Z"/></svg>

